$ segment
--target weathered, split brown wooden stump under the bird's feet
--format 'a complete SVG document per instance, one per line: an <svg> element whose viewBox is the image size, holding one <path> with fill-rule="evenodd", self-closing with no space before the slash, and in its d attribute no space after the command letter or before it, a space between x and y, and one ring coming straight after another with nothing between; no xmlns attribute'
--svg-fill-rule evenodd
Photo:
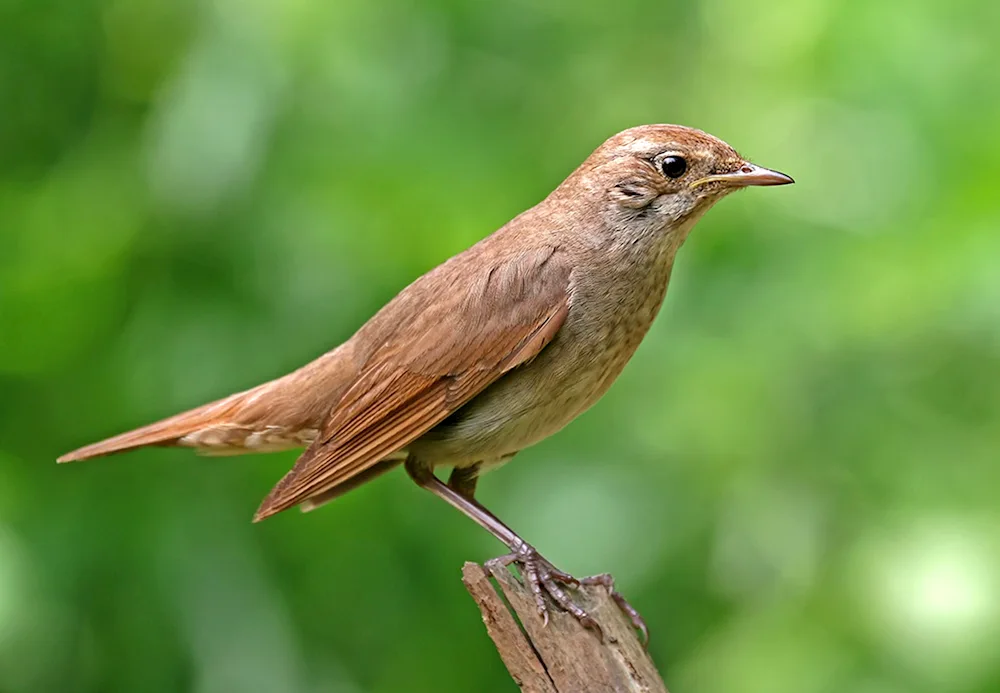
<svg viewBox="0 0 1000 693"><path fill-rule="evenodd" d="M593 631L555 608L543 626L531 591L509 570L487 572L478 563L466 563L462 582L522 693L668 693L632 625L604 588L576 591L580 606L604 630L601 643Z"/></svg>

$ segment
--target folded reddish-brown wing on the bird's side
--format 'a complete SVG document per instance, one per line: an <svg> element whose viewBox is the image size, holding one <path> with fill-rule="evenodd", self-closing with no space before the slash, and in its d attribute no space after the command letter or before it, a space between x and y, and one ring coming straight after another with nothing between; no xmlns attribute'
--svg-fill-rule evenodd
<svg viewBox="0 0 1000 693"><path fill-rule="evenodd" d="M459 256L404 290L359 331L371 356L254 520L363 473L534 358L566 318L569 284L568 262L543 247Z"/></svg>

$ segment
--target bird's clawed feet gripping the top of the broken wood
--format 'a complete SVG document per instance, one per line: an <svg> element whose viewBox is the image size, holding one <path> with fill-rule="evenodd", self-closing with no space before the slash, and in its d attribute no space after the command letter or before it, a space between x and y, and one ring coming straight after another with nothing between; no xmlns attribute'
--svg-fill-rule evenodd
<svg viewBox="0 0 1000 693"><path fill-rule="evenodd" d="M517 564L521 571L522 579L527 583L532 594L535 596L535 606L544 625L548 625L549 623L549 607L545 602L545 595L548 594L552 601L559 605L563 611L572 614L584 628L590 628L595 631L603 641L604 631L601 630L601 626L590 614L580 608L564 589L565 587L580 587L581 585L600 585L608 591L608 594L615 600L618 608L629 617L632 626L642 633L643 645L649 645L649 629L646 628L646 622L643 621L639 612L626 601L625 597L615 590L614 578L608 573L577 579L569 573L556 568L530 544L521 544L513 553L489 560L486 562L486 566L488 568L506 568L512 563Z"/></svg>

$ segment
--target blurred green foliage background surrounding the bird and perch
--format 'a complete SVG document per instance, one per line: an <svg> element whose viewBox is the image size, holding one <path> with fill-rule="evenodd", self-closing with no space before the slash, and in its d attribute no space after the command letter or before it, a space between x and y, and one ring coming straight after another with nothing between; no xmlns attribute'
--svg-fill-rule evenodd
<svg viewBox="0 0 1000 693"><path fill-rule="evenodd" d="M295 368L614 132L713 210L604 400L480 496L675 693L1000 690L1000 5L0 2L0 691L513 691L402 473L57 454Z"/></svg>

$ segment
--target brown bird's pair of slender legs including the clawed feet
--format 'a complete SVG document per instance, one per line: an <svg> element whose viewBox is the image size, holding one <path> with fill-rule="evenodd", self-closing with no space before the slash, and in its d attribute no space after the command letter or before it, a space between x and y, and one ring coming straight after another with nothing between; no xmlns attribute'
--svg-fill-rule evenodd
<svg viewBox="0 0 1000 693"><path fill-rule="evenodd" d="M433 470L422 464L414 457L406 460L406 472L420 487L427 489L435 496L438 496L449 505L457 508L463 514L471 518L479 526L483 527L490 534L502 541L510 549L510 553L500 558L487 561L490 566L509 566L517 563L521 569L522 576L532 594L535 596L535 605L538 614L547 624L549 620L548 605L545 603L545 594L558 604L564 611L572 614L586 628L597 631L603 640L604 634L600 625L586 611L581 609L570 598L563 587L578 587L580 585L601 585L608 590L608 594L615 600L615 603L629 617L632 625L642 633L644 642L649 643L649 630L639 612L636 611L625 598L615 591L614 580L608 574L595 575L593 577L578 580L569 573L565 573L556 568L535 550L535 547L521 539L514 530L505 525L496 515L487 510L483 505L473 498L475 491L475 478L466 478L466 474L459 473L456 477L455 470L452 472L449 482L445 484L438 479ZM473 468L470 468L473 469ZM466 495L466 492L468 495Z"/></svg>

